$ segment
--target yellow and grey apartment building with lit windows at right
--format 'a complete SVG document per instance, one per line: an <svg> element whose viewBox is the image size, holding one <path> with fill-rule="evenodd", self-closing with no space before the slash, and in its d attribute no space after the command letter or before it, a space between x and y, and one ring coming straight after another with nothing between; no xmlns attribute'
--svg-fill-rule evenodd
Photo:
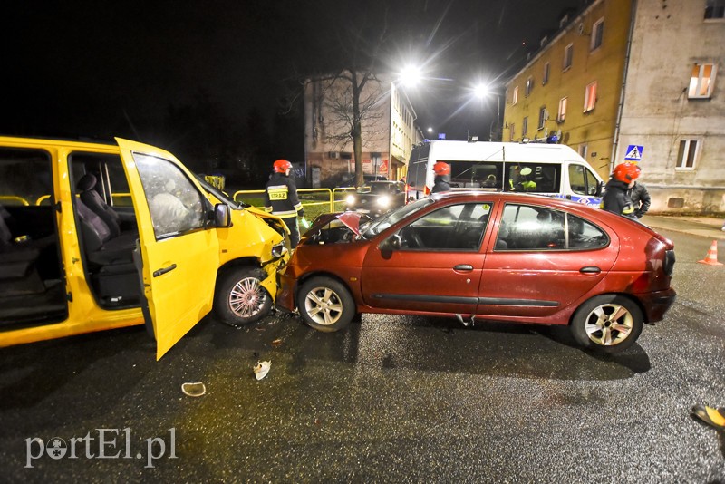
<svg viewBox="0 0 725 484"><path fill-rule="evenodd" d="M652 213L725 212L723 0L594 0L507 82L504 139L556 135L606 179L638 162Z"/></svg>

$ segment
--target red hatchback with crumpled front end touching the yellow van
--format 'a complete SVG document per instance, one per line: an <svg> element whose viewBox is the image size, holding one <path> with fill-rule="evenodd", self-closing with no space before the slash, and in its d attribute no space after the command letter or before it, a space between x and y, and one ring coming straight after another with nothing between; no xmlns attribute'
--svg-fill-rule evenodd
<svg viewBox="0 0 725 484"><path fill-rule="evenodd" d="M321 331L360 313L568 325L579 344L614 353L675 298L670 240L563 199L451 192L360 221L315 220L278 305Z"/></svg>

